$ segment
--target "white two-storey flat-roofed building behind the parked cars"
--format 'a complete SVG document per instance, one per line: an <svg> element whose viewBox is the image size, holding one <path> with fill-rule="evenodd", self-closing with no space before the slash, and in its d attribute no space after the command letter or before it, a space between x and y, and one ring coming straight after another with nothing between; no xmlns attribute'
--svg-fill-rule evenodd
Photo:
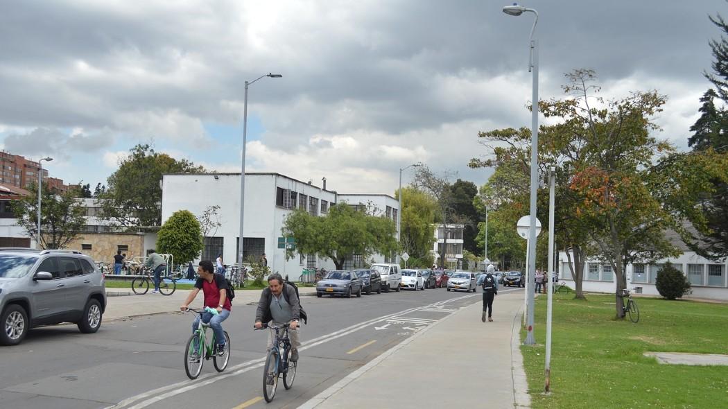
<svg viewBox="0 0 728 409"><path fill-rule="evenodd" d="M315 255L296 255L285 260L285 238L282 226L286 216L296 208L305 209L312 215L326 215L331 204L348 202L364 205L373 210L387 209L396 214L397 200L384 194L337 194L312 183L288 178L277 173L245 174L245 215L243 221L243 259L260 258L264 253L271 271L277 271L290 279L298 279L303 269L331 270L333 261ZM215 260L223 255L223 262L234 264L240 245L240 173L169 174L162 176L162 223L178 210L189 210L194 215L210 206L219 206L218 221L221 223L205 238L202 259ZM381 261L382 256L375 257ZM352 263L358 266L364 261L352 255Z"/></svg>

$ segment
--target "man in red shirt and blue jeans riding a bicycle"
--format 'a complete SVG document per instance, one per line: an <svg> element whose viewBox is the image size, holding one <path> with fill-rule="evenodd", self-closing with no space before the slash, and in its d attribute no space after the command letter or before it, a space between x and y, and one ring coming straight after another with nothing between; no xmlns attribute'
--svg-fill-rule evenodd
<svg viewBox="0 0 728 409"><path fill-rule="evenodd" d="M215 340L218 342L218 355L224 355L227 345L225 344L222 322L230 316L230 310L232 309L232 304L227 298L227 282L221 274L215 274L213 263L209 260L199 262L197 275L199 275L199 278L194 283L194 288L180 306L180 309L185 311L189 304L194 301L194 298L197 297L199 290L202 290L202 294L205 295L205 306L218 311L217 315L210 312L202 314L202 322L210 323L210 327L213 328L215 333ZM192 333L197 330L197 325L199 325L199 317L192 323Z"/></svg>

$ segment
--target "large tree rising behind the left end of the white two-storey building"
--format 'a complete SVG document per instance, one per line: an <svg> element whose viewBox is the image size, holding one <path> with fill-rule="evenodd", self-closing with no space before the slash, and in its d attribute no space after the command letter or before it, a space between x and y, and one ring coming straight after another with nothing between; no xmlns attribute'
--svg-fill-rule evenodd
<svg viewBox="0 0 728 409"><path fill-rule="evenodd" d="M205 172L186 159L177 160L137 145L122 159L119 169L108 177L108 188L100 195L103 216L121 226L159 226L162 223L162 187L165 173Z"/></svg>

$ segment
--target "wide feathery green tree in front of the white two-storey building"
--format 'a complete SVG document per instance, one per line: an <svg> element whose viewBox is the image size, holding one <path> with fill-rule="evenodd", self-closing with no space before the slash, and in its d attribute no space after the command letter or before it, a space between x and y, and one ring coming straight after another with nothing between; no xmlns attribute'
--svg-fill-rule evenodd
<svg viewBox="0 0 728 409"><path fill-rule="evenodd" d="M334 204L325 216L309 215L298 209L285 218L281 231L284 237L296 240L296 249L286 250L287 258L296 252L316 254L331 258L339 270L344 269L344 262L351 255L362 255L366 260L373 253L397 250L395 223L346 202Z"/></svg>

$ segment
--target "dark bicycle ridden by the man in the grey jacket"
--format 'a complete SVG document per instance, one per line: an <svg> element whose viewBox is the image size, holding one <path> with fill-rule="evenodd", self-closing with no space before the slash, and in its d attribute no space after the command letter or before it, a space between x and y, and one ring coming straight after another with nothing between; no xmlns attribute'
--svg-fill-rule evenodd
<svg viewBox="0 0 728 409"><path fill-rule="evenodd" d="M293 386L293 380L296 378L298 362L290 360L289 325L290 322L287 322L277 327L270 327L275 331L275 335L273 337L273 347L268 352L266 365L263 367L263 397L266 398L266 402L273 400L278 387L278 378L281 375L283 376L285 389L290 389ZM266 328L268 326L264 324L260 329L264 330Z"/></svg>

